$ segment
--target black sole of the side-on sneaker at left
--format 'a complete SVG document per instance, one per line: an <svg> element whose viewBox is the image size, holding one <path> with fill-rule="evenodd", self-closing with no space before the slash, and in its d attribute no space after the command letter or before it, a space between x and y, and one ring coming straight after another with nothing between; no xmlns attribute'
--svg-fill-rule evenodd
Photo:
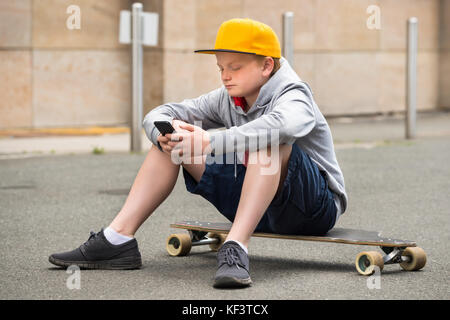
<svg viewBox="0 0 450 320"><path fill-rule="evenodd" d="M104 261L66 261L50 256L48 261L58 267L75 265L80 269L130 270L139 269L142 266L140 257L125 257Z"/></svg>

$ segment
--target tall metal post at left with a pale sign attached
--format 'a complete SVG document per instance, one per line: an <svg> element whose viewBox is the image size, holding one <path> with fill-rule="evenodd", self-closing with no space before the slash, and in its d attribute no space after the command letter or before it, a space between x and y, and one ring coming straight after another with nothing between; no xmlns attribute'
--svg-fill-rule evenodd
<svg viewBox="0 0 450 320"><path fill-rule="evenodd" d="M131 112L131 151L141 151L142 132L142 3L133 3L132 25L132 112Z"/></svg>

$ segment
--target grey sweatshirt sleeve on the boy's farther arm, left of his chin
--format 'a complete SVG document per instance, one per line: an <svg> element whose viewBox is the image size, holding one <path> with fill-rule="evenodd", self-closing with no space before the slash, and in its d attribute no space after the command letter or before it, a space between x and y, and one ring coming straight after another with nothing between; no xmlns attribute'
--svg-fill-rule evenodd
<svg viewBox="0 0 450 320"><path fill-rule="evenodd" d="M185 99L179 103L166 103L147 113L143 120L143 127L147 138L162 151L157 138L159 130L154 121L182 120L202 127L203 130L223 127L221 119L216 112L220 103L223 89L218 88L195 99ZM195 123L194 123L195 122Z"/></svg>

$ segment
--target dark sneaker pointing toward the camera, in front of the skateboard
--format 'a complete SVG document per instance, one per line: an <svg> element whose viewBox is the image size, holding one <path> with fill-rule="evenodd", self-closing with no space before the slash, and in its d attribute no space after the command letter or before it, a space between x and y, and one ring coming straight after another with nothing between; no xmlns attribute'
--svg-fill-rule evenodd
<svg viewBox="0 0 450 320"><path fill-rule="evenodd" d="M247 253L234 241L227 241L217 253L215 288L247 287L252 283Z"/></svg>

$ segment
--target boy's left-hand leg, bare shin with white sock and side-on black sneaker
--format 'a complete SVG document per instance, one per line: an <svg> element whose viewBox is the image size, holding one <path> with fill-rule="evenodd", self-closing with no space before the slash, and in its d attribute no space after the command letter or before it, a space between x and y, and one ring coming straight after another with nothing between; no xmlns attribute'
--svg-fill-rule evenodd
<svg viewBox="0 0 450 320"><path fill-rule="evenodd" d="M204 171L204 166L205 163L188 165L193 176L200 175L202 170ZM173 190L179 167L179 164L171 161L170 155L161 152L157 147L152 147L123 208L110 228L106 229L107 232L104 230L98 233L91 232L84 244L71 251L52 254L49 261L62 267L78 265L89 269L139 268L142 265L141 254L133 235ZM108 236L114 237L112 239L114 243ZM115 240L120 240L120 243Z"/></svg>

